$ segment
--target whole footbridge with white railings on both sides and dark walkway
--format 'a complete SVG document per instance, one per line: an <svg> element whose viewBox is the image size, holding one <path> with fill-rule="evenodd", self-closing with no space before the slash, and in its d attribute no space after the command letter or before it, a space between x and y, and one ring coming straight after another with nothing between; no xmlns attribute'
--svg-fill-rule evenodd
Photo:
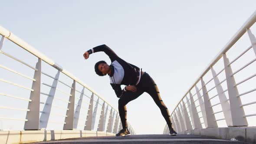
<svg viewBox="0 0 256 144"><path fill-rule="evenodd" d="M121 121L111 104L0 26L0 120L14 127L0 131L0 143L256 144L255 22L256 12L181 96L171 111L176 137L167 126L163 134L136 135L131 124L131 136L114 137Z"/></svg>

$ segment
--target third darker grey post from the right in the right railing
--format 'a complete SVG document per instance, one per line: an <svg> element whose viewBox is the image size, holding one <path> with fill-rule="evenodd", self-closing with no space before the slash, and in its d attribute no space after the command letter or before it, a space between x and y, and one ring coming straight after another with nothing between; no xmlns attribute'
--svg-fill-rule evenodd
<svg viewBox="0 0 256 144"><path fill-rule="evenodd" d="M188 104L191 104L189 106L191 108L191 112L192 112L192 113L190 113L190 116L192 117L191 120L192 120L192 123L194 124L194 129L202 128L202 124L200 124L199 116L197 113L197 108L194 103L194 98L193 98L191 92L189 92L189 97L190 97L190 103L188 102Z"/></svg>

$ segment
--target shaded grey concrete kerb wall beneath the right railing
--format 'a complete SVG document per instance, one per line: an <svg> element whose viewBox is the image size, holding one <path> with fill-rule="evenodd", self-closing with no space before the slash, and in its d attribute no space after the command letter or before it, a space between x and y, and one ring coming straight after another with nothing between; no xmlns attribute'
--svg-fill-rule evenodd
<svg viewBox="0 0 256 144"><path fill-rule="evenodd" d="M187 130L179 134L205 135L226 140L235 138L238 141L256 144L256 127L203 128Z"/></svg>

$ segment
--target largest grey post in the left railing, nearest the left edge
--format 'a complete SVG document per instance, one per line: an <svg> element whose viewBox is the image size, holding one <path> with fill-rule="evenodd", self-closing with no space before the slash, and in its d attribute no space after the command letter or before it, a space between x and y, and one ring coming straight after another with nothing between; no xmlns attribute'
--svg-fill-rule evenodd
<svg viewBox="0 0 256 144"><path fill-rule="evenodd" d="M3 36L4 37L4 36ZM2 40L4 39L2 37ZM2 42L1 40L1 42ZM34 73L34 79L32 83L33 92L30 92L30 99L32 101L28 104L28 109L26 113L26 119L24 124L24 130L38 130L39 129L39 109L40 109L40 88L41 88L41 62L42 60L38 58L38 62L36 63L36 69Z"/></svg>

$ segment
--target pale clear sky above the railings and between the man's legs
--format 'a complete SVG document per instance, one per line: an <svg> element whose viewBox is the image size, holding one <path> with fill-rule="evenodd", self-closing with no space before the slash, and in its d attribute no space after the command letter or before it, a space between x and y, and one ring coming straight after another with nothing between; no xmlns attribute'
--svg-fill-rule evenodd
<svg viewBox="0 0 256 144"><path fill-rule="evenodd" d="M0 25L53 59L118 108L108 76L106 44L157 83L171 112L210 61L255 11L255 0L5 0ZM249 46L249 43L246 47ZM7 49L7 48L5 48ZM148 94L127 105L137 134L161 134L165 121Z"/></svg>

